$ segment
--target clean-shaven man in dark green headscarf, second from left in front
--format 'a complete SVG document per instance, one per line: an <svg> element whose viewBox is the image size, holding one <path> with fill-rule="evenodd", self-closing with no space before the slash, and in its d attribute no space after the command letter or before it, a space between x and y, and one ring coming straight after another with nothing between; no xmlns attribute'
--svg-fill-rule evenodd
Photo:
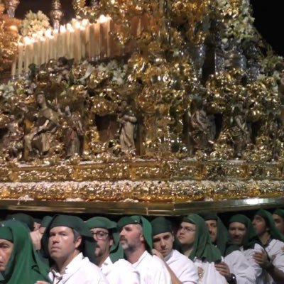
<svg viewBox="0 0 284 284"><path fill-rule="evenodd" d="M53 283L108 283L94 265L96 244L79 217L55 215L45 229L41 245L52 265L49 277Z"/></svg>

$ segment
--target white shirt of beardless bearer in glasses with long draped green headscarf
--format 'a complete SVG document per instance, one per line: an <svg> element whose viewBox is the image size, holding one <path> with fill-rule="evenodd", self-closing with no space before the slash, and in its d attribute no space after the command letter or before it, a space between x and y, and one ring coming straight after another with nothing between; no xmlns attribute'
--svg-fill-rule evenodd
<svg viewBox="0 0 284 284"><path fill-rule="evenodd" d="M198 284L228 284L226 278L216 270L214 262L202 261L198 258L195 258L193 262L198 269Z"/></svg>

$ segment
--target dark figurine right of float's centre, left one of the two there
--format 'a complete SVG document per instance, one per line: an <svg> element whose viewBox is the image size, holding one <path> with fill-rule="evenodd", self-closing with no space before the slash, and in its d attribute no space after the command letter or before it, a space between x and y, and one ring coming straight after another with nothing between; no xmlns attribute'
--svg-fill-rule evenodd
<svg viewBox="0 0 284 284"><path fill-rule="evenodd" d="M214 116L209 116L204 110L201 99L193 100L190 105L190 138L193 150L209 153L216 134Z"/></svg>

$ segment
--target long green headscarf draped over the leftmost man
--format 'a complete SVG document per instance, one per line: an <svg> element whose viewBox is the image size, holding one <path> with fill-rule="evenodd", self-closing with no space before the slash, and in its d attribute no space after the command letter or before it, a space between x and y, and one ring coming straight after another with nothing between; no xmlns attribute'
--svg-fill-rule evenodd
<svg viewBox="0 0 284 284"><path fill-rule="evenodd" d="M0 224L0 239L13 243L13 251L1 273L5 284L33 284L38 280L50 282L48 266L40 261L31 241L28 228L16 220L7 220Z"/></svg>

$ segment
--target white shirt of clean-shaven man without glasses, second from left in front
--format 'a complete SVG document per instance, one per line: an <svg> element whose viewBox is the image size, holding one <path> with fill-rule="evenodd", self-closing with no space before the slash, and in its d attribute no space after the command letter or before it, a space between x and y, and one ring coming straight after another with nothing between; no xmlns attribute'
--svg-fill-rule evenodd
<svg viewBox="0 0 284 284"><path fill-rule="evenodd" d="M102 271L82 253L72 259L62 274L51 268L48 276L53 284L109 284Z"/></svg>

